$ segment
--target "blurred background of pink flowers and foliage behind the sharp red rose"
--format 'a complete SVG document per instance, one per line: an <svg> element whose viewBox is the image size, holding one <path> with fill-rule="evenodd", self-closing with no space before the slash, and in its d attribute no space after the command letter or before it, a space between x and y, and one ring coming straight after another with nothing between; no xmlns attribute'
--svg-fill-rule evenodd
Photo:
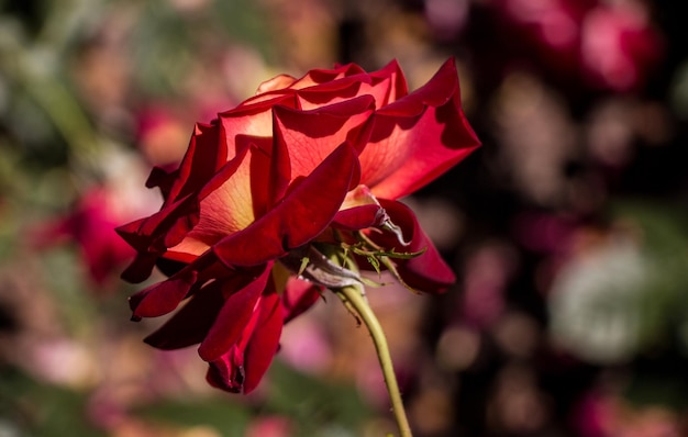
<svg viewBox="0 0 688 437"><path fill-rule="evenodd" d="M458 282L369 293L415 435L688 436L688 3L0 0L0 436L380 436L364 328L290 323L249 396L142 343L112 228L277 74L456 58L481 149L406 199Z"/></svg>

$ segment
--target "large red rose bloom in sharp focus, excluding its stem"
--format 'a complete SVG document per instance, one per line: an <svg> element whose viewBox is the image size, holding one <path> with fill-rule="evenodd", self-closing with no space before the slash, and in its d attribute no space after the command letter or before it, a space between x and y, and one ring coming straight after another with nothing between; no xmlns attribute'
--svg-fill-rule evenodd
<svg viewBox="0 0 688 437"><path fill-rule="evenodd" d="M165 198L160 211L118 228L137 250L124 279L143 281L155 266L169 276L130 299L133 320L186 300L146 341L200 344L210 384L251 392L284 323L325 288L362 281L331 254L391 268L411 289L437 293L454 282L397 199L478 145L453 60L412 93L396 61L375 72L349 64L264 82L197 124L179 168L154 169L147 181Z"/></svg>

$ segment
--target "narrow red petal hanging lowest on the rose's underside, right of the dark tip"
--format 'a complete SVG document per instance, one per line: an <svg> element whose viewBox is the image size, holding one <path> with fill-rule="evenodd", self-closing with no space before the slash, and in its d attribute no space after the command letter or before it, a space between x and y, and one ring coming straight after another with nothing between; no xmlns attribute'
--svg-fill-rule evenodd
<svg viewBox="0 0 688 437"><path fill-rule="evenodd" d="M251 393L267 371L277 349L282 328L282 312L276 293L264 295L259 305L260 317L244 355L244 393Z"/></svg>

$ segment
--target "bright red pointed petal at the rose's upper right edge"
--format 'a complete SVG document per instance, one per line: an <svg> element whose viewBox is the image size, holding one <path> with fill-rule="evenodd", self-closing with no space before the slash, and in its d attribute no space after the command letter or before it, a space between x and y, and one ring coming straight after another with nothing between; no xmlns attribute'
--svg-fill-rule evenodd
<svg viewBox="0 0 688 437"><path fill-rule="evenodd" d="M460 108L453 59L424 87L380 109L374 122L360 165L363 183L378 198L410 194L480 144Z"/></svg>

